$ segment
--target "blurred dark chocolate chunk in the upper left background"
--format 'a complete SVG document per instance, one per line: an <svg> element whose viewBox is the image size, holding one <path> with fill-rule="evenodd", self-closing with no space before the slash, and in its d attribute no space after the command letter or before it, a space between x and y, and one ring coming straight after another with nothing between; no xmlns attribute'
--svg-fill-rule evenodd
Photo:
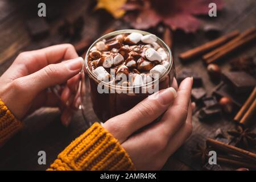
<svg viewBox="0 0 256 182"><path fill-rule="evenodd" d="M32 38L38 39L49 33L49 26L44 18L34 18L27 21L28 32Z"/></svg>

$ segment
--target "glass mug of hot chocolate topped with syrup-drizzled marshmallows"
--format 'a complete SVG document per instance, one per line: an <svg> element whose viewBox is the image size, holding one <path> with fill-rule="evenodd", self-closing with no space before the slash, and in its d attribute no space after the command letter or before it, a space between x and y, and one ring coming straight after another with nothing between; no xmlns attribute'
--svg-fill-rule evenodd
<svg viewBox="0 0 256 182"><path fill-rule="evenodd" d="M102 121L168 88L175 77L166 44L153 34L136 30L116 31L98 39L86 54L85 69L93 109Z"/></svg>

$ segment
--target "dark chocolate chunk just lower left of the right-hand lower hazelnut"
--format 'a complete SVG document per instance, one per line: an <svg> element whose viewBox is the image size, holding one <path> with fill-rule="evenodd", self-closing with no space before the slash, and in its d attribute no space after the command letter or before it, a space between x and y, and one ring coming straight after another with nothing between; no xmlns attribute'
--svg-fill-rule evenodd
<svg viewBox="0 0 256 182"><path fill-rule="evenodd" d="M212 105L208 107L203 107L199 111L198 117L199 119L204 120L212 117L217 117L220 114L221 114L221 107L219 105Z"/></svg>

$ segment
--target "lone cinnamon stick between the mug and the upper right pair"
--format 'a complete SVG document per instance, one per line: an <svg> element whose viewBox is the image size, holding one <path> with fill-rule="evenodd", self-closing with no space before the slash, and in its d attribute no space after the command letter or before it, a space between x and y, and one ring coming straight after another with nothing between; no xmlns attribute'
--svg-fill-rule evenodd
<svg viewBox="0 0 256 182"><path fill-rule="evenodd" d="M216 48L226 42L228 42L230 39L233 39L234 37L236 37L237 35L239 35L239 31L232 31L230 32L228 35L224 35L224 36L221 36L220 38L218 39L215 39L215 40L212 40L208 43L205 43L199 47L196 47L196 48L193 48L189 51L186 51L184 53L181 53L179 55L179 58L181 60L188 60L188 59L191 59L192 57L195 57L195 56L199 56L213 48Z"/></svg>

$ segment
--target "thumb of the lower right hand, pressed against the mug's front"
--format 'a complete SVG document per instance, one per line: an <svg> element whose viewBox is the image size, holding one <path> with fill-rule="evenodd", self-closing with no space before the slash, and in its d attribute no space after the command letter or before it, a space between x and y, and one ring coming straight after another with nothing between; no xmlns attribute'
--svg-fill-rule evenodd
<svg viewBox="0 0 256 182"><path fill-rule="evenodd" d="M150 124L163 114L172 105L176 96L176 90L172 87L160 90L126 113L109 119L103 126L122 143L135 131Z"/></svg>

